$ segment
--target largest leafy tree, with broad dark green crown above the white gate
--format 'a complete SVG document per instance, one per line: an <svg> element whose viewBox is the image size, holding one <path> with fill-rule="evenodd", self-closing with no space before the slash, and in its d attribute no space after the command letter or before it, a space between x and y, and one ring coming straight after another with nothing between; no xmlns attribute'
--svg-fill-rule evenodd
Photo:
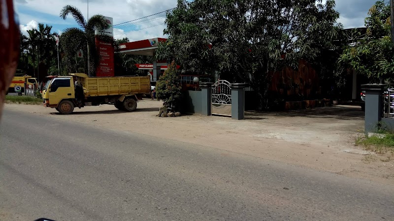
<svg viewBox="0 0 394 221"><path fill-rule="evenodd" d="M342 29L334 7L334 0L178 0L156 58L250 83L263 103L273 72L334 47Z"/></svg>

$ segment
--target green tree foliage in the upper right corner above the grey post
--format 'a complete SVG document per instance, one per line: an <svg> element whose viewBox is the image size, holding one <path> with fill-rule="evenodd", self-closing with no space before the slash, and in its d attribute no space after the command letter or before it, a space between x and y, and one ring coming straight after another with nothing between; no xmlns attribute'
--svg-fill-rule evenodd
<svg viewBox="0 0 394 221"><path fill-rule="evenodd" d="M377 1L365 18L366 35L356 38L339 58L339 62L366 75L371 82L392 78L393 43L390 29L390 4Z"/></svg>

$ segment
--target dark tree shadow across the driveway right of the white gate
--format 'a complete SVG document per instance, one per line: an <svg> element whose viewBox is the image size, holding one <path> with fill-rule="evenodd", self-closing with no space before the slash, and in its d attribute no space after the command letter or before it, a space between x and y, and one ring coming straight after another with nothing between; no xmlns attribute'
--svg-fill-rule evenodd
<svg viewBox="0 0 394 221"><path fill-rule="evenodd" d="M264 120L267 116L277 117L311 117L311 118L332 118L340 120L363 119L364 111L358 106L333 106L325 108L314 108L309 110L296 111L245 111L245 119Z"/></svg>

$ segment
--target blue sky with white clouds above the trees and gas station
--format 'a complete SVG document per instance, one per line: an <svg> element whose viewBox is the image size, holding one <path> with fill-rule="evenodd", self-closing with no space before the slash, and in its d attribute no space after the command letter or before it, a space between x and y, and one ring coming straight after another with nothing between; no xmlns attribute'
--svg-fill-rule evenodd
<svg viewBox="0 0 394 221"><path fill-rule="evenodd" d="M323 0L325 1L325 0ZM341 17L338 22L344 28L364 27L368 9L376 0L336 0L336 10ZM128 37L130 41L165 37L165 13L136 20L176 7L177 0L14 0L19 15L20 28L37 28L38 23L52 26L52 30L62 33L65 28L78 27L69 16L66 20L59 17L66 4L79 8L85 18L101 14L113 18L114 38ZM89 10L88 10L89 6ZM131 20L133 22L125 23ZM117 25L125 23L122 25Z"/></svg>

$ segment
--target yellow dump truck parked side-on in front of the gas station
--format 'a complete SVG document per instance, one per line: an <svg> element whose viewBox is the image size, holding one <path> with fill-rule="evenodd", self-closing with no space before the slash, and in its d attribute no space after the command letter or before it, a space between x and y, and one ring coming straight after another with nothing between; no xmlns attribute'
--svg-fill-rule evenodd
<svg viewBox="0 0 394 221"><path fill-rule="evenodd" d="M137 100L150 92L146 77L88 77L76 73L48 81L42 91L44 107L70 114L74 108L115 105L122 111L134 111Z"/></svg>

